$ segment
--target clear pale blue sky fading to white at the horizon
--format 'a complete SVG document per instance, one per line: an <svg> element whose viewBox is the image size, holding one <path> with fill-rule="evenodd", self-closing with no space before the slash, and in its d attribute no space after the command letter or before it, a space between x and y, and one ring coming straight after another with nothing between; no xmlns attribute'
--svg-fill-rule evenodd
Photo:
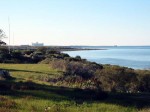
<svg viewBox="0 0 150 112"><path fill-rule="evenodd" d="M8 17L11 45L150 45L150 0L0 0L9 37Z"/></svg>

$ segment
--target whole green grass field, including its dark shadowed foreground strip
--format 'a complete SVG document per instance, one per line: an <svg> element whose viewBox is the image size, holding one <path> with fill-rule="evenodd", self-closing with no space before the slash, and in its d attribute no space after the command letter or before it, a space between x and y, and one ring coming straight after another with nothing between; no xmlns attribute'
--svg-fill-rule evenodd
<svg viewBox="0 0 150 112"><path fill-rule="evenodd" d="M0 64L0 69L13 77L0 81L11 85L11 90L0 91L0 112L150 112L150 94L109 94L105 100L90 100L85 97L88 92L50 85L44 79L61 72L47 64Z"/></svg>

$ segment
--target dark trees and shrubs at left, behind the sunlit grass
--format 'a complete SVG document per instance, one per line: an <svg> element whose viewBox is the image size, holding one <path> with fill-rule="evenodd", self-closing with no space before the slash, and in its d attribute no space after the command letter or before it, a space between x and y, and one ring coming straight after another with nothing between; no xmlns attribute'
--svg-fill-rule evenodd
<svg viewBox="0 0 150 112"><path fill-rule="evenodd" d="M7 46L0 46L0 63L38 63L45 55L32 50L11 50Z"/></svg>

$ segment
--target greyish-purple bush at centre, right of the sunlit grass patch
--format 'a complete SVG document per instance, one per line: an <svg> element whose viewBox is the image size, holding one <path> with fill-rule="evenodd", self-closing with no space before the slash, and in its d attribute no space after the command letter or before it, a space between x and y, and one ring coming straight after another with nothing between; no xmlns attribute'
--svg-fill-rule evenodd
<svg viewBox="0 0 150 112"><path fill-rule="evenodd" d="M63 71L65 75L78 75L85 79L91 78L97 69L101 70L103 68L101 65L95 63L66 60L52 60L50 66L53 69Z"/></svg>

